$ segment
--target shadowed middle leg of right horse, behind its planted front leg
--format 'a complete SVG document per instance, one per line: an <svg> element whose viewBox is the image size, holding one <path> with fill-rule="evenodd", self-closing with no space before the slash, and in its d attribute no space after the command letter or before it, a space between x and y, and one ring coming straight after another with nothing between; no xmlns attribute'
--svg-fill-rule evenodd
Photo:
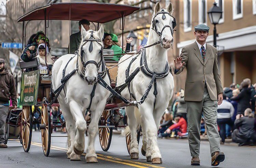
<svg viewBox="0 0 256 168"><path fill-rule="evenodd" d="M146 123L144 118L141 119L141 128L143 133L141 153L143 156L146 156L147 162L151 162L151 149L150 149L150 145L147 143L148 141L147 133L146 133L147 128L146 128Z"/></svg>

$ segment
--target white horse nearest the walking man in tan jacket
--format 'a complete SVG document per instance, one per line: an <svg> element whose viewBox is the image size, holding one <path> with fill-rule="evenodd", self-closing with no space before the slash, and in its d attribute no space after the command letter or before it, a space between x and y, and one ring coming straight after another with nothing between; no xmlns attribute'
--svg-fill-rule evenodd
<svg viewBox="0 0 256 168"><path fill-rule="evenodd" d="M167 64L167 49L170 48L173 43L172 31L173 31L173 22L174 18L171 16L173 13L173 6L169 3L167 9L161 9L160 2L158 2L154 9L154 14L152 21L153 23L150 27L150 32L148 35L147 45L153 44L159 41L159 36L161 37L161 44L157 44L145 49L146 52L146 64L149 70L152 72L163 72ZM154 30L153 30L153 29ZM159 33L156 33L159 32ZM119 61L124 61L129 55L123 56ZM117 75L117 86L125 83L125 71L131 61L133 56L127 61L118 66L118 75ZM131 64L129 74L131 74L137 67L140 67L141 54L138 58ZM134 94L136 101L139 101L150 83L151 78L147 77L139 71L139 73L133 78L130 83L130 91ZM137 107L126 107L126 114L128 116L128 125L125 130L125 133L130 131L131 133L131 144L130 144L130 154L131 159L138 159L139 147L136 139L136 128L138 124L142 126L143 131L143 146L142 154L147 157L147 161L153 164L161 164L161 153L157 144L157 130L160 124L160 119L165 112L165 109L168 107L168 103L173 95L174 81L171 73L168 74L165 78L157 79L157 96L154 107L155 95L154 86L149 92L144 103L138 105ZM122 92L122 96L127 99L130 99L130 93L128 87L126 87ZM134 100L134 99L133 99Z"/></svg>

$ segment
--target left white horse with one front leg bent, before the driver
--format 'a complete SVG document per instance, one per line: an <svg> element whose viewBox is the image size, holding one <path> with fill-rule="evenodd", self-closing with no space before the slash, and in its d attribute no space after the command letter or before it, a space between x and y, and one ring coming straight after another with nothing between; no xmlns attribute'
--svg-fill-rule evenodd
<svg viewBox="0 0 256 168"><path fill-rule="evenodd" d="M56 90L61 85L62 71L70 58L74 57L68 63L66 75L76 69L76 62L78 63L78 71L66 82L64 87L65 92L62 90L58 97L62 114L66 120L66 128L69 136L68 141L70 140L67 155L72 161L80 160L80 155L84 152L84 133L87 129L84 113L90 104L90 94L93 90L94 83L97 82L97 63L99 64L102 59L103 26L100 27L98 32L93 32L92 34L91 31L92 30L88 30L86 32L84 27L81 26L82 41L78 56L74 54L63 55L54 63L52 71L53 89ZM98 41L90 41L91 35L93 35L94 39L98 39ZM93 48L90 48L91 43ZM99 72L101 72L101 67L99 67L99 69ZM83 78L80 74L84 75L82 75ZM106 83L110 84L108 75L103 79ZM85 156L87 163L98 162L94 142L98 132L99 118L104 110L109 94L110 92L99 84L96 86L95 96L93 97L90 107L91 122L88 126L89 143Z"/></svg>

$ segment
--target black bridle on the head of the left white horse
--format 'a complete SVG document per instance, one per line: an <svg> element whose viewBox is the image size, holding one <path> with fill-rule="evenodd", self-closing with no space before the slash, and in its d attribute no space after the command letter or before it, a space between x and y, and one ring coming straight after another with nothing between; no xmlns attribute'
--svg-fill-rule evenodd
<svg viewBox="0 0 256 168"><path fill-rule="evenodd" d="M85 71L85 67L86 67L89 63L95 64L95 65L97 66L97 71L98 71L99 68L100 68L101 62L102 62L102 60L103 60L103 45L101 44L101 43L102 43L101 40L95 39L95 38L93 37L94 31L90 31L90 33L91 33L91 37L90 37L89 39L84 39L84 40L83 40L84 43L83 43L82 46L81 46L80 58L81 58L81 62L82 62L83 67L84 67L84 71ZM89 52L92 52L92 51L93 51L93 41L96 41L98 44L101 45L101 51L100 51L101 56L100 56L100 61L99 61L99 62L96 62L96 61L94 61L94 60L89 60L89 61L87 61L87 62L84 62L84 61L83 61L83 54L84 54L84 51L83 51L82 48L83 48L83 46L84 46L88 41L90 41ZM100 42L101 42L101 43L100 43Z"/></svg>

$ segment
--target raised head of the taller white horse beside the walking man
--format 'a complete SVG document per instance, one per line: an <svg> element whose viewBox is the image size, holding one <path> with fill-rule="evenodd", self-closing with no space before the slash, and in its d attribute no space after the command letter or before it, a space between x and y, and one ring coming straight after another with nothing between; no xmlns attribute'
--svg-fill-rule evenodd
<svg viewBox="0 0 256 168"><path fill-rule="evenodd" d="M152 19L152 29L160 36L161 46L165 49L169 49L173 43L173 29L176 26L176 20L172 13L171 2L167 9L162 9L160 2L157 2Z"/></svg>

